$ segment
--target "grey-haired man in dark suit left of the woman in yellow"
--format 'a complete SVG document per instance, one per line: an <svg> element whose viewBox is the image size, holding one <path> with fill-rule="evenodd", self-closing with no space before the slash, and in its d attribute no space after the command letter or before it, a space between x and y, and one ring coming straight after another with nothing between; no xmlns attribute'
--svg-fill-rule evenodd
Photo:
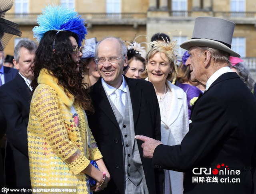
<svg viewBox="0 0 256 194"><path fill-rule="evenodd" d="M14 48L13 63L19 73L0 87L0 109L6 118L5 176L8 187L31 187L27 126L31 100L31 65L36 43L21 40Z"/></svg>

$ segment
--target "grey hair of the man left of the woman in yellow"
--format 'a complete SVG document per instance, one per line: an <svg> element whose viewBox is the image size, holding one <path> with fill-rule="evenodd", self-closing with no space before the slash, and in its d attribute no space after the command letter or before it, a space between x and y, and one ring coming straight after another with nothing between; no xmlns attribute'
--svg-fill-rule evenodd
<svg viewBox="0 0 256 194"><path fill-rule="evenodd" d="M37 49L37 44L29 39L22 39L18 42L18 44L16 45L16 47L14 48L14 59L15 61L19 61L20 60L20 48L24 47L26 49L28 49L29 52L32 51L36 51Z"/></svg>

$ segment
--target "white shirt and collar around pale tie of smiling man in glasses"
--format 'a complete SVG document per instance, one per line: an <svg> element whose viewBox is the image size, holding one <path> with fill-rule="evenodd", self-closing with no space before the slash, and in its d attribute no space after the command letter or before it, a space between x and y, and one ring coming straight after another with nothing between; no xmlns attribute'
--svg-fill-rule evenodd
<svg viewBox="0 0 256 194"><path fill-rule="evenodd" d="M124 76L122 75L122 84L119 88L114 88L113 86L110 86L109 84L107 84L104 79L102 78L101 79L101 83L102 83L102 86L103 88L105 89L105 91L107 92L110 100L115 104L115 99L116 99L116 94L115 94L115 90L116 89L120 89L122 90L122 94L121 94L121 98L122 98L122 103L124 104L125 106L125 94L127 93L127 90L126 90L126 83L125 83L125 80L124 80ZM116 105L116 104L115 104ZM116 107L118 110L120 110L119 108L120 107Z"/></svg>

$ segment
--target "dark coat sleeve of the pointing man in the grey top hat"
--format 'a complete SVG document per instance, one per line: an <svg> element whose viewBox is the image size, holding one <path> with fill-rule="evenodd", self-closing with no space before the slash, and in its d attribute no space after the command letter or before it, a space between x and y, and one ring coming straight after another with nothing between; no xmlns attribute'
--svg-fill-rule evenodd
<svg viewBox="0 0 256 194"><path fill-rule="evenodd" d="M210 153L230 129L229 108L218 96L200 98L194 109L200 117L194 117L190 131L180 145L158 145L154 151L153 163L164 169L184 172ZM222 119L219 119L222 118Z"/></svg>

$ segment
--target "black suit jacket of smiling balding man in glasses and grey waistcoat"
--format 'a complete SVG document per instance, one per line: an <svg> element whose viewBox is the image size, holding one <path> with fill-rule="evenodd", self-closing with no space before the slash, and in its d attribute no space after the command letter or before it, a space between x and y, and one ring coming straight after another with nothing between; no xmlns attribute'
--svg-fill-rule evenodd
<svg viewBox="0 0 256 194"><path fill-rule="evenodd" d="M152 83L126 77L125 79L130 90L135 134L161 140L160 110ZM122 194L124 193L122 138L114 112L102 87L101 78L91 87L90 96L95 114L88 115L89 126L111 176L108 187L102 193ZM137 143L148 190L152 194L162 193L163 171L154 169L152 161L144 159L142 141Z"/></svg>

